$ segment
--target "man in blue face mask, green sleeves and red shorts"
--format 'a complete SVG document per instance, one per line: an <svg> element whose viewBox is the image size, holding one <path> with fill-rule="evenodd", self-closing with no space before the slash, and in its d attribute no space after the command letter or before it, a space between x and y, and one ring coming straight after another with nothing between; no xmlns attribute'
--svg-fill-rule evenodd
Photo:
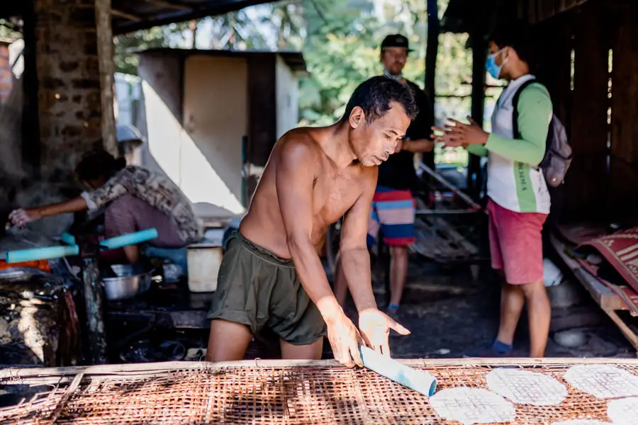
<svg viewBox="0 0 638 425"><path fill-rule="evenodd" d="M442 142L468 147L488 157L488 212L492 268L503 271L500 327L491 348L472 356L510 356L514 333L527 303L530 356L544 356L552 311L543 283L541 231L549 215L550 197L538 165L545 154L552 120L547 89L530 74L532 40L521 23L496 28L491 36L488 72L509 81L492 115L492 133L452 120ZM525 86L523 86L525 84ZM516 103L515 103L516 102ZM517 107L517 120L513 110ZM515 127L516 124L516 127Z"/></svg>

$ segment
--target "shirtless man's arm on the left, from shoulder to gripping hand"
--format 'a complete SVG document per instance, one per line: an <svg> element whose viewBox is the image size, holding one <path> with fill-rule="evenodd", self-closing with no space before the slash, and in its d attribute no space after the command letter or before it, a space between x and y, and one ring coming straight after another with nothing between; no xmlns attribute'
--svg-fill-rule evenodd
<svg viewBox="0 0 638 425"><path fill-rule="evenodd" d="M313 229L313 180L318 155L309 142L289 140L281 147L276 164L276 190L284 219L286 240L301 285L317 305L326 325L335 359L352 367L362 366L361 336L332 293L325 270L310 240Z"/></svg>

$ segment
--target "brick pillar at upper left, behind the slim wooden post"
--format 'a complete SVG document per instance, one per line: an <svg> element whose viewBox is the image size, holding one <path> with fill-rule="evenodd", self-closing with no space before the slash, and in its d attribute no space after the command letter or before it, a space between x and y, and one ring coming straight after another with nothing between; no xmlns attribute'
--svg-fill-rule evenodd
<svg viewBox="0 0 638 425"><path fill-rule="evenodd" d="M101 137L94 1L34 1L40 173L72 184L78 157Z"/></svg>

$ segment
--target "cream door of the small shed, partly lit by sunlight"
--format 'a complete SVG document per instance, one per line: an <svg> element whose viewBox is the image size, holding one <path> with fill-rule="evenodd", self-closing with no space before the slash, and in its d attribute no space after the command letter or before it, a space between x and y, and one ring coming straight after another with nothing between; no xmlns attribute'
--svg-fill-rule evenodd
<svg viewBox="0 0 638 425"><path fill-rule="evenodd" d="M247 134L247 63L196 55L184 69L181 189L196 213L215 217L242 207L242 137Z"/></svg>

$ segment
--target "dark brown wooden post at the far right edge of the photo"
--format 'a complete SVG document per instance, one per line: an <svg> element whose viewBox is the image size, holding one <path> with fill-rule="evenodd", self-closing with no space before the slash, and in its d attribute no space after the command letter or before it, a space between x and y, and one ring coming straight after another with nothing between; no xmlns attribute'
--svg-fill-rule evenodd
<svg viewBox="0 0 638 425"><path fill-rule="evenodd" d="M612 220L638 210L638 4L612 16L610 213Z"/></svg>

